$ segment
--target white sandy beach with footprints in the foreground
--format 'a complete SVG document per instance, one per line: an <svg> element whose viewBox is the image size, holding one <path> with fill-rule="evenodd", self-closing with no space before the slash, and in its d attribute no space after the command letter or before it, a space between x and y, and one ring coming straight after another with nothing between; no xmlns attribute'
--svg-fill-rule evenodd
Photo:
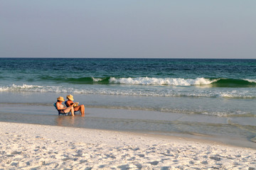
<svg viewBox="0 0 256 170"><path fill-rule="evenodd" d="M129 132L0 123L0 169L256 169L256 150Z"/></svg>

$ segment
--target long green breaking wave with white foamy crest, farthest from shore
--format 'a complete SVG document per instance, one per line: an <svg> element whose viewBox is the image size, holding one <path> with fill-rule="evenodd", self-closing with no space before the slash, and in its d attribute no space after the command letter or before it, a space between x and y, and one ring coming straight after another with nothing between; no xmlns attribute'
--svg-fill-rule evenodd
<svg viewBox="0 0 256 170"><path fill-rule="evenodd" d="M53 81L68 84L129 84L129 85L166 85L166 86L205 86L212 87L256 87L255 79L225 79L225 78L156 78L156 77L78 77L53 78L41 77L41 81Z"/></svg>

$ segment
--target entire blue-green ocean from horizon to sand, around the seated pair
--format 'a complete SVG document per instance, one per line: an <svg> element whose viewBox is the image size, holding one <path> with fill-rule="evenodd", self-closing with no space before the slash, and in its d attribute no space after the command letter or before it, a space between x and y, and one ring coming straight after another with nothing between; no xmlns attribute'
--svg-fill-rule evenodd
<svg viewBox="0 0 256 170"><path fill-rule="evenodd" d="M254 147L256 60L0 58L0 121L214 138ZM85 118L58 116L72 94Z"/></svg>

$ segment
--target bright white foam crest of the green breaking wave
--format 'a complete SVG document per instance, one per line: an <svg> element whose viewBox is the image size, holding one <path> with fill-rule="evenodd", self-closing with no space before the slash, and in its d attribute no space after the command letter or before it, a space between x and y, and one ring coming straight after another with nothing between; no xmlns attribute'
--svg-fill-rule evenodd
<svg viewBox="0 0 256 170"><path fill-rule="evenodd" d="M205 78L197 79L181 79L181 78L154 78L154 77L137 77L137 78L110 78L110 83L113 84L135 84L135 85L171 85L171 86L194 86L207 85L213 81Z"/></svg>

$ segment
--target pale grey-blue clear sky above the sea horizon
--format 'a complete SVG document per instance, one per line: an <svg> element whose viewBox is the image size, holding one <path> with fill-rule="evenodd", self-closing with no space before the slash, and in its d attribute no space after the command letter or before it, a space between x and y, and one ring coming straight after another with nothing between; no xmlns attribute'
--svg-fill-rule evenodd
<svg viewBox="0 0 256 170"><path fill-rule="evenodd" d="M256 59L256 1L0 0L0 57Z"/></svg>

